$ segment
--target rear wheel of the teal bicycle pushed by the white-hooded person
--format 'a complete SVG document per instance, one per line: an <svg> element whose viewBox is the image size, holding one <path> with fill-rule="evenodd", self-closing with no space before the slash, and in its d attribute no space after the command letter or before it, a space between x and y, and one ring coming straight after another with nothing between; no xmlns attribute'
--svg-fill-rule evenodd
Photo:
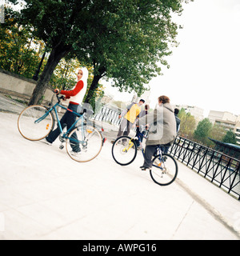
<svg viewBox="0 0 240 256"><path fill-rule="evenodd" d="M66 139L66 152L77 162L89 162L102 150L102 135L93 126L78 126Z"/></svg>

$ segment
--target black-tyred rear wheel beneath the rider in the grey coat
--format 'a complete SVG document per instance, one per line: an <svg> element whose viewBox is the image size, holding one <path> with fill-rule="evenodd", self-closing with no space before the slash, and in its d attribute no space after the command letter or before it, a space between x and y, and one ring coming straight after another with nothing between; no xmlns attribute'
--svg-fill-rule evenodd
<svg viewBox="0 0 240 256"><path fill-rule="evenodd" d="M170 154L162 154L153 159L150 176L160 186L170 185L177 178L178 164Z"/></svg>

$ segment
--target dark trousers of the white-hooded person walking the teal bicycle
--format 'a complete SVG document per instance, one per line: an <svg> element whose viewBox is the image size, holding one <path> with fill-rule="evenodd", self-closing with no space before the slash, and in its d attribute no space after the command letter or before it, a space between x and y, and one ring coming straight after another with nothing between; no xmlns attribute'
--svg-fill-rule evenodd
<svg viewBox="0 0 240 256"><path fill-rule="evenodd" d="M74 112L77 112L78 105L74 104L69 104L68 109L73 110ZM62 116L62 119L60 120L62 130L66 127L67 130L70 129L70 127L74 124L76 121L76 115L71 113L70 111L66 111L66 113ZM55 130L52 130L48 137L46 137L46 140L50 143L53 143L56 138L58 138L59 134L61 133L59 127L57 127ZM71 138L74 140L78 140L78 136L76 133L72 134ZM70 143L71 148L73 149L74 152L79 152L80 147L79 143Z"/></svg>

